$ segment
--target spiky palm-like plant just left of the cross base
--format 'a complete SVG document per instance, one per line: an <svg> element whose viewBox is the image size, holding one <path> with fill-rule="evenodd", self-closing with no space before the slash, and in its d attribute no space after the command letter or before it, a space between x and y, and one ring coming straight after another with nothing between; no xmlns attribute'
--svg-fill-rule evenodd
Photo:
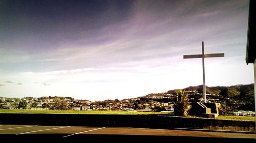
<svg viewBox="0 0 256 143"><path fill-rule="evenodd" d="M187 116L188 110L191 108L191 105L189 105L188 101L189 98L187 96L187 93L182 90L175 91L177 100L174 102L174 114L176 116Z"/></svg>

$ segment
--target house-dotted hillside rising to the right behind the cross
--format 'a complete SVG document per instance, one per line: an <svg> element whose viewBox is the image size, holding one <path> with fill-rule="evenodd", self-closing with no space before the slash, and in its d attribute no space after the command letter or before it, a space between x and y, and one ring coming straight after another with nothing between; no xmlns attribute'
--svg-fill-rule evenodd
<svg viewBox="0 0 256 143"><path fill-rule="evenodd" d="M169 90L165 93L148 94L140 97L140 99L172 102L176 90ZM181 90L188 92L190 102L202 102L203 85L195 87L190 86ZM221 103L225 113L231 110L255 110L254 84L238 84L229 87L206 87L206 100L210 103Z"/></svg>

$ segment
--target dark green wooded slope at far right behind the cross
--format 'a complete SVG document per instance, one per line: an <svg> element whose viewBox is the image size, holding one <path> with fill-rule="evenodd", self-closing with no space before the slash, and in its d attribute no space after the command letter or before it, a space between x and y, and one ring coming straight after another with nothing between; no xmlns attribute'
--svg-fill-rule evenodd
<svg viewBox="0 0 256 143"><path fill-rule="evenodd" d="M199 96L193 95L192 91L196 93L203 93L203 85L198 85L196 87L188 87L183 89L189 92L189 98L198 99ZM168 94L175 94L176 90L170 90ZM230 115L233 110L255 110L254 105L254 84L238 84L230 87L206 87L206 99L216 99L223 106L223 113ZM198 100L190 100L190 102L198 102ZM225 106L225 107L224 107ZM231 109L231 110L230 110ZM231 112L230 112L231 111Z"/></svg>

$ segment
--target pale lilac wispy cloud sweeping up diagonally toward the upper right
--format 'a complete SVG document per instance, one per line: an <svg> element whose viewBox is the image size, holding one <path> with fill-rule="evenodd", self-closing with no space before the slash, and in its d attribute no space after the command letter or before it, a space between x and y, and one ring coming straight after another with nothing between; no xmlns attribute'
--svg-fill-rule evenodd
<svg viewBox="0 0 256 143"><path fill-rule="evenodd" d="M134 62L141 65L145 61L158 61L163 57L182 55L182 51L195 48L200 51L200 47L195 46L195 43L200 45L203 40L210 41L211 44L241 41L239 40L243 36L241 34L246 33L247 30L245 27L240 28L247 18L242 9L246 7L245 5L247 2L244 1L234 3L135 1L129 11L126 11L125 19L108 22L97 29L86 27L71 36L75 36L75 39L63 39L57 44L57 48L31 55L22 50L20 53L24 58L18 56L19 52L15 56L24 59L20 62L26 61L25 65L33 71L39 71L46 66L48 67L46 71L55 71L107 67L115 63ZM235 9L239 11L238 14L234 12ZM243 30L234 33L239 29ZM230 42L223 37L237 39ZM220 49L216 47L211 49L214 48ZM11 51L7 52L10 59L4 61L13 61ZM231 52L241 54L241 50ZM162 62L168 61L165 59ZM37 64L34 64L35 62Z"/></svg>

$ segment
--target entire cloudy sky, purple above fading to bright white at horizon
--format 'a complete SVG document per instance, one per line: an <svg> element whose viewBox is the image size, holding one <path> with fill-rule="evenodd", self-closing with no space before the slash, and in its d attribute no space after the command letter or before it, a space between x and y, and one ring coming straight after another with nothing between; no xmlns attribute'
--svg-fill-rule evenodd
<svg viewBox="0 0 256 143"><path fill-rule="evenodd" d="M103 101L254 82L249 1L0 1L0 97Z"/></svg>

